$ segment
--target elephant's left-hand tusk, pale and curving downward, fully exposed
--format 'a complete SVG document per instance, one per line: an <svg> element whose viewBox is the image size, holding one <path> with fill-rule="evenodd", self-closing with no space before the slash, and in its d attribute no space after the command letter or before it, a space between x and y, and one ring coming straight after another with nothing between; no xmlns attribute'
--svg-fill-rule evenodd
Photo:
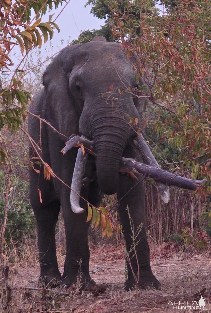
<svg viewBox="0 0 211 313"><path fill-rule="evenodd" d="M79 137L84 138L84 136ZM82 151L81 148L78 149L78 154L76 157L76 163L74 167L74 172L72 176L72 183L71 183L71 192L70 192L70 204L71 209L74 213L79 214L83 213L85 210L80 207L80 192L82 186L82 179L85 172L86 162L87 162L88 153L85 153L84 150Z"/></svg>

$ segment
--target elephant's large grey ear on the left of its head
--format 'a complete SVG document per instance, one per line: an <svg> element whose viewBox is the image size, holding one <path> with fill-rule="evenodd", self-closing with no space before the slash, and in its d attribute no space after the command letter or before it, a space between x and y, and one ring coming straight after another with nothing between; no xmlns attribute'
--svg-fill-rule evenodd
<svg viewBox="0 0 211 313"><path fill-rule="evenodd" d="M71 72L76 58L76 51L81 46L72 45L64 48L48 65L43 74L45 86L45 119L64 136L63 140L79 131L79 117L74 99L68 89L68 73Z"/></svg>

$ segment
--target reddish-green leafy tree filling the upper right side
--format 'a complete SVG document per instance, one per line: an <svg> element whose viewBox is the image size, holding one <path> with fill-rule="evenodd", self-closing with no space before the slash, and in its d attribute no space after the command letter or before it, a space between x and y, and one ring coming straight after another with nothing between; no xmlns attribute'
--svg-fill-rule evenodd
<svg viewBox="0 0 211 313"><path fill-rule="evenodd" d="M159 164L193 179L207 179L204 187L193 193L193 203L194 217L202 213L200 223L209 233L211 6L203 0L161 3L164 13L149 0L89 0L87 5L92 5L91 12L98 18L107 18L113 40L123 44L128 57L136 58L134 70L148 86L150 93L146 95L151 100L143 118L143 131ZM149 180L149 184L154 182ZM199 198L203 204L198 213ZM175 205L177 215L178 209ZM188 204L185 209L185 218L190 221ZM179 223L182 225L182 218ZM165 233L165 229L162 231Z"/></svg>

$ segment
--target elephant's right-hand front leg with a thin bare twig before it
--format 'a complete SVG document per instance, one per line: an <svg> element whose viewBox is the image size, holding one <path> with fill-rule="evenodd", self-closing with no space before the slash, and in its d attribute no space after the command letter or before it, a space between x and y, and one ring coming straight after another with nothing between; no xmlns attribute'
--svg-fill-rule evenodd
<svg viewBox="0 0 211 313"><path fill-rule="evenodd" d="M128 279L125 289L138 285L142 289L161 287L160 282L152 274L150 266L150 250L145 232L145 192L143 184L136 187L137 181L120 175L118 199L120 223L123 226L127 248ZM134 187L128 194L127 192Z"/></svg>

